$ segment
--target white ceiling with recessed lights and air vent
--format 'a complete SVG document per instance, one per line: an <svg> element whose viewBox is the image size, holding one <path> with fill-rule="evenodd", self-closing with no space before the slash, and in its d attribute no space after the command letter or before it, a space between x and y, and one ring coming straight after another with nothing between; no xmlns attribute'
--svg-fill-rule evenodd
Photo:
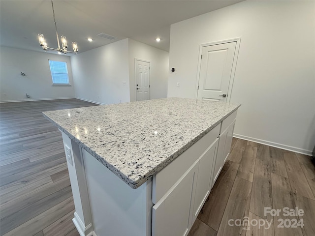
<svg viewBox="0 0 315 236"><path fill-rule="evenodd" d="M240 0L54 0L59 35L79 53L131 38L169 51L170 25ZM42 52L37 34L57 48L50 0L0 0L0 45ZM109 40L99 33L115 36ZM189 33L189 32L188 32ZM93 39L88 42L88 37ZM156 42L155 38L161 41ZM56 52L54 52L56 53ZM72 54L67 54L71 56Z"/></svg>

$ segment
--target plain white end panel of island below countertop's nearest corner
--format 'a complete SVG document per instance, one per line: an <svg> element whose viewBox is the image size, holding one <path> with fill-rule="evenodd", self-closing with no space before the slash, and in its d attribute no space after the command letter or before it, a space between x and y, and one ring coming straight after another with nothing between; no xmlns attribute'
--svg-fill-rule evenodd
<svg viewBox="0 0 315 236"><path fill-rule="evenodd" d="M97 236L151 236L152 180L132 189L82 150Z"/></svg>

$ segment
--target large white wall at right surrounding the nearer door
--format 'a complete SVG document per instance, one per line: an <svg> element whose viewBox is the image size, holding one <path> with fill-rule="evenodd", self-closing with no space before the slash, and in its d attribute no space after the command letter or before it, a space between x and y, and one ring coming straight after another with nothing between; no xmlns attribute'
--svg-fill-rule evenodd
<svg viewBox="0 0 315 236"><path fill-rule="evenodd" d="M231 102L238 137L311 153L315 1L243 1L171 26L168 96L193 98L200 44L241 37ZM180 82L181 87L176 88Z"/></svg>

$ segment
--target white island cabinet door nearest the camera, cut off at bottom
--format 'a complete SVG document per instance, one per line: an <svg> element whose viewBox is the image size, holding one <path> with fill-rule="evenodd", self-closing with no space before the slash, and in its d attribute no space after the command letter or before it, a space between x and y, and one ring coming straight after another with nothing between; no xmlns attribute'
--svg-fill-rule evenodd
<svg viewBox="0 0 315 236"><path fill-rule="evenodd" d="M199 160L152 209L152 236L187 236L191 227Z"/></svg>

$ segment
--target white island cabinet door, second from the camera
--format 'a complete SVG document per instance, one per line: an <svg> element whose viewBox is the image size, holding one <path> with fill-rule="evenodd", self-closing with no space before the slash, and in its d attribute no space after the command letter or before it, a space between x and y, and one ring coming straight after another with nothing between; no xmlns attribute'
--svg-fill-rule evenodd
<svg viewBox="0 0 315 236"><path fill-rule="evenodd" d="M218 141L216 141L201 155L199 158L199 169L196 184L196 194L193 207L193 219L192 222L197 218L203 204L207 200L212 187L212 169L214 162L216 161Z"/></svg>

